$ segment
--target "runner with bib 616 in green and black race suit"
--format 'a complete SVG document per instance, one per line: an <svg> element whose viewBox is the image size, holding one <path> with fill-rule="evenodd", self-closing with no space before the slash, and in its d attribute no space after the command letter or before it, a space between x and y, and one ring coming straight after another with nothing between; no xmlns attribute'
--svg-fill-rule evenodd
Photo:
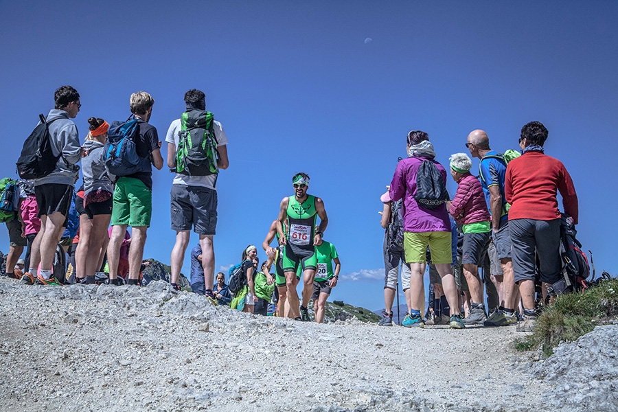
<svg viewBox="0 0 618 412"><path fill-rule="evenodd" d="M307 194L309 176L297 173L292 178L294 196L286 196L281 201L277 233L285 245L282 266L288 286L288 302L291 316L301 321L309 321L307 305L313 294L313 280L317 268L315 247L319 246L328 225L328 216L321 198ZM317 217L320 225L315 231ZM287 228L284 233L284 227ZM296 290L296 271L298 266L303 271L302 304ZM299 308L299 309L297 309Z"/></svg>

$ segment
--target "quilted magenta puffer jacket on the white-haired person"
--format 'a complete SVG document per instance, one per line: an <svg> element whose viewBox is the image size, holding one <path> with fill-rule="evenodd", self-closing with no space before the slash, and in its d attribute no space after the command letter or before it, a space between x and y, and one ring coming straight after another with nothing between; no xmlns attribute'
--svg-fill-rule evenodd
<svg viewBox="0 0 618 412"><path fill-rule="evenodd" d="M461 176L457 185L457 193L448 209L455 222L466 225L490 220L481 181L468 172Z"/></svg>

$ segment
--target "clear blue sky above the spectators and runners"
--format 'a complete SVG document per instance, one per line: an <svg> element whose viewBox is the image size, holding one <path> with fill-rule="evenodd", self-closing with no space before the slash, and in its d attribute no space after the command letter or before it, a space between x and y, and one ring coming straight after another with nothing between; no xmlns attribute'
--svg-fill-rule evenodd
<svg viewBox="0 0 618 412"><path fill-rule="evenodd" d="M549 129L546 153L575 182L584 249L597 273L617 273L617 19L611 1L4 1L0 175L16 176L23 139L62 84L80 92L82 140L88 117L126 119L139 90L155 98L150 123L164 140L185 91L201 89L229 138L216 267L261 244L293 194L291 177L304 171L341 257L332 299L376 310L379 196L407 132L429 133L446 164L475 128L503 151L538 120ZM144 256L169 263L172 174L153 179Z"/></svg>

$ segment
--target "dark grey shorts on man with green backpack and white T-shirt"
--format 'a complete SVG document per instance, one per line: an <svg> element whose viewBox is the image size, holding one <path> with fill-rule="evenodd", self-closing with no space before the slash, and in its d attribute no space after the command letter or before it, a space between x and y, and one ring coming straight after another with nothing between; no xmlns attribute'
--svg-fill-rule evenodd
<svg viewBox="0 0 618 412"><path fill-rule="evenodd" d="M172 230L214 235L217 229L217 191L201 186L172 185Z"/></svg>

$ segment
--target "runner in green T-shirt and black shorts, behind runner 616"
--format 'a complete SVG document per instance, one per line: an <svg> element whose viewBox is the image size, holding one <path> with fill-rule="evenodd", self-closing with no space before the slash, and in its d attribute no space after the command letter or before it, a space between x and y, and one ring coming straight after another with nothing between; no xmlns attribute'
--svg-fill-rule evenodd
<svg viewBox="0 0 618 412"><path fill-rule="evenodd" d="M326 299L330 296L330 290L337 286L339 280L339 271L341 271L341 262L334 244L323 242L315 247L317 255L317 273L313 280L313 310L315 312L315 321L322 323L324 320L324 307ZM335 262L334 272L332 270L332 262Z"/></svg>

